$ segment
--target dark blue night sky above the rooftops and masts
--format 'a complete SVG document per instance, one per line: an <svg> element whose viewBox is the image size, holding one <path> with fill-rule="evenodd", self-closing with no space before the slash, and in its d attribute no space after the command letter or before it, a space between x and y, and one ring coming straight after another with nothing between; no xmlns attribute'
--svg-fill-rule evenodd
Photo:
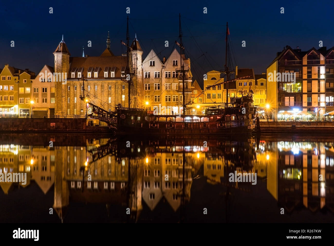
<svg viewBox="0 0 334 246"><path fill-rule="evenodd" d="M126 51L120 40L126 39L126 8L130 7L130 37L133 40L137 33L143 59L151 49L162 52L161 59L169 56L178 39L181 13L183 43L196 79L205 71L223 68L226 21L236 65L261 73L286 45L299 46L303 51L319 49L322 40L327 48L334 46L333 6L333 1L267 0L2 1L0 67L9 64L37 73L44 64L54 66L52 53L62 34L71 56L82 56L82 46L85 54L100 56L110 31L111 50L121 55ZM53 14L49 14L49 7L53 7ZM203 7L207 7L207 14ZM281 7L284 14L280 13ZM11 40L15 47L10 47ZM87 47L88 40L92 41L91 48ZM169 41L167 49L165 40ZM246 47L241 47L242 40ZM205 56L201 56L203 53Z"/></svg>

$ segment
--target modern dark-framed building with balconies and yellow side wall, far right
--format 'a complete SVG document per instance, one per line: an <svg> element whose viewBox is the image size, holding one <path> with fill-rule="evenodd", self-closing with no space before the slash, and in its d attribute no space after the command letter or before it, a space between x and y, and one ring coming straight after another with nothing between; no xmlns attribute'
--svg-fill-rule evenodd
<svg viewBox="0 0 334 246"><path fill-rule="evenodd" d="M282 111L304 111L313 117L334 110L333 48L286 46L267 68L268 103L277 117Z"/></svg>

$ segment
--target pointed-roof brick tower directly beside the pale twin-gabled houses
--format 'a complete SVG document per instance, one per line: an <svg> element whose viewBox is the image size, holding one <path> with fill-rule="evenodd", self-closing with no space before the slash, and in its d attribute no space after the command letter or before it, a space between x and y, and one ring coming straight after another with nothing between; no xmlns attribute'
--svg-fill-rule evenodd
<svg viewBox="0 0 334 246"><path fill-rule="evenodd" d="M142 55L143 55L143 50L139 45L139 42L137 40L137 34L135 34L135 39L133 40L131 44L131 62L132 62L132 69L133 73L135 74L135 77L133 78L133 83L135 90L137 91L137 96L139 103L143 104L141 102L142 98L142 90L143 90L143 76L142 76ZM141 105L138 105L139 107Z"/></svg>

